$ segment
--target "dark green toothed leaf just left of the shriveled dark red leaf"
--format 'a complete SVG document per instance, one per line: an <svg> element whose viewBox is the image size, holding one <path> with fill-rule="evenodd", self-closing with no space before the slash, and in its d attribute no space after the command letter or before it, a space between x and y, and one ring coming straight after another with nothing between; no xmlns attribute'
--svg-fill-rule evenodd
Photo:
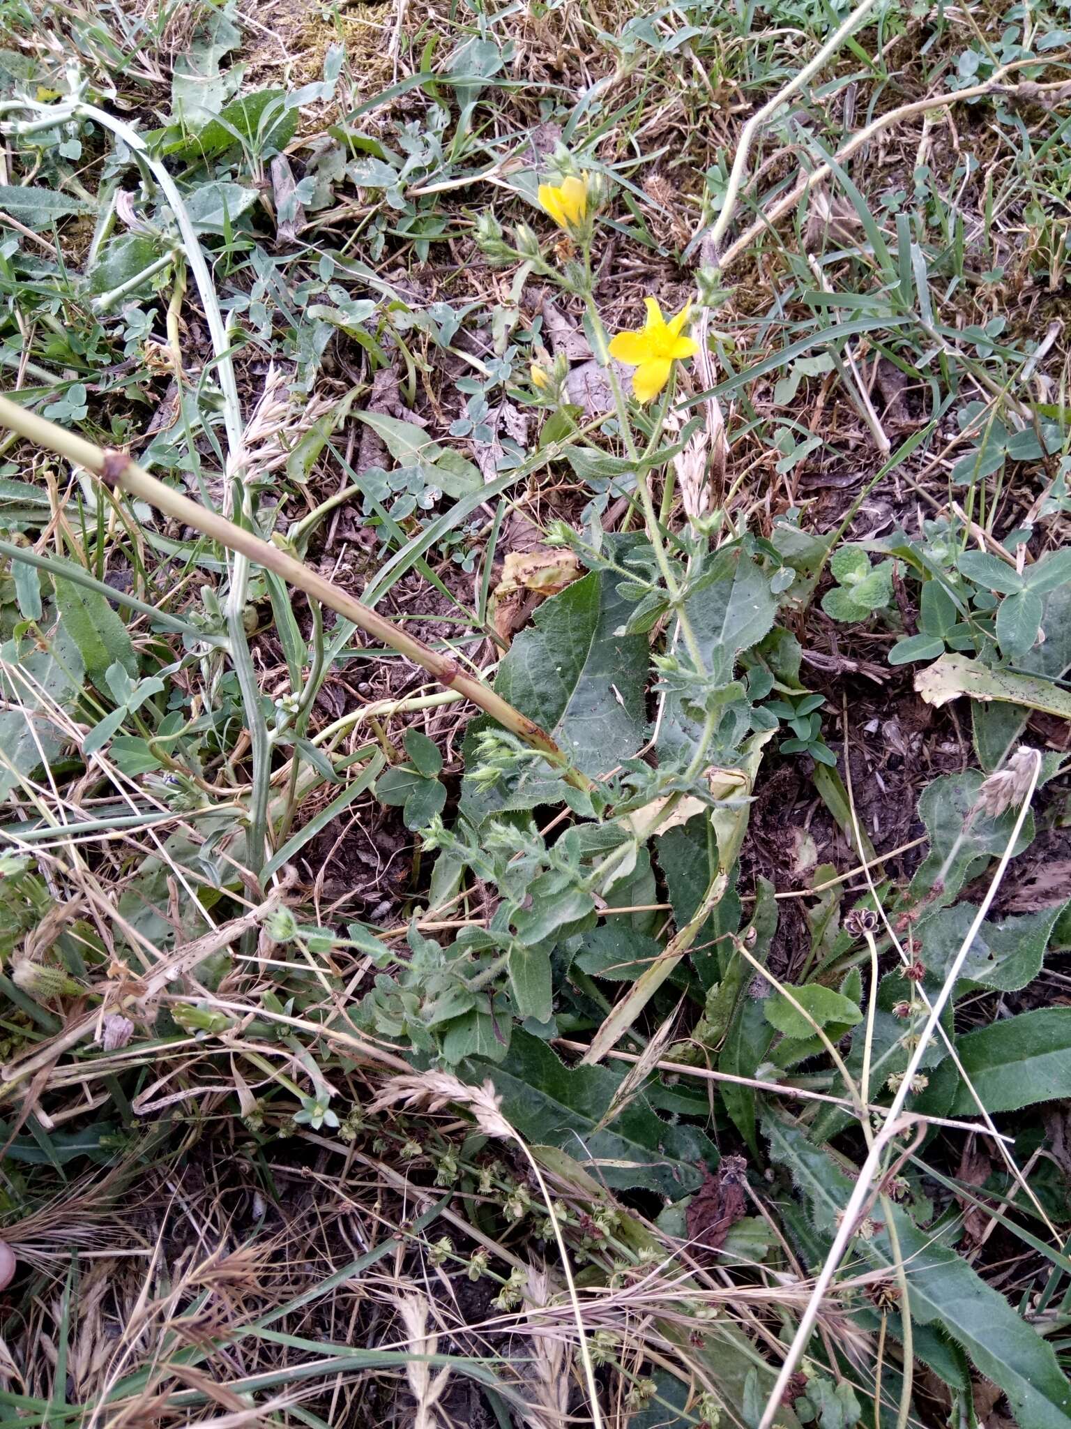
<svg viewBox="0 0 1071 1429"><path fill-rule="evenodd" d="M703 1132L663 1122L641 1097L600 1127L621 1076L603 1066L567 1067L527 1032L514 1030L501 1066L477 1063L471 1076L477 1083L490 1076L526 1140L560 1146L607 1186L645 1186L678 1200L703 1180L697 1162L717 1165Z"/></svg>

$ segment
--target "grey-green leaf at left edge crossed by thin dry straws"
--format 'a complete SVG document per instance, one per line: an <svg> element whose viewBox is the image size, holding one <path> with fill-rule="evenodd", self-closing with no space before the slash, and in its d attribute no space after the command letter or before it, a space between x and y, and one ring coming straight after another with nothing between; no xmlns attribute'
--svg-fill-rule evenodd
<svg viewBox="0 0 1071 1429"><path fill-rule="evenodd" d="M0 797L19 786L19 775L31 775L67 746L67 736L53 725L50 709L69 710L81 690L84 666L79 647L61 627L47 650L24 647L9 640L0 647L0 696L10 707L0 710ZM21 679L20 676L26 676Z"/></svg>

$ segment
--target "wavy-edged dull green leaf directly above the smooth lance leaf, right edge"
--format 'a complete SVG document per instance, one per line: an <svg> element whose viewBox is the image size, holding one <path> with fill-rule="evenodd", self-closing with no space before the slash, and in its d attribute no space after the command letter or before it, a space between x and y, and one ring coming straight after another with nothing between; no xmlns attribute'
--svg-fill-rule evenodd
<svg viewBox="0 0 1071 1429"><path fill-rule="evenodd" d="M958 993L975 987L998 992L1020 992L1041 972L1050 935L1067 907L1057 903L1040 913L1022 913L995 922L984 922L974 936L962 967ZM974 922L972 903L957 903L941 909L915 925L915 936L922 943L927 970L942 982Z"/></svg>

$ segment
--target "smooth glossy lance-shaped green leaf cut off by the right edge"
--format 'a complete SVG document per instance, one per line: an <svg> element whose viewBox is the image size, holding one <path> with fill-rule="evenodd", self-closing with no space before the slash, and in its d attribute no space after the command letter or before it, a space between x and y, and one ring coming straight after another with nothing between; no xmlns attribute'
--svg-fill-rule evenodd
<svg viewBox="0 0 1071 1429"><path fill-rule="evenodd" d="M990 1112L1018 1112L1071 1096L1071 1007L1040 1007L958 1037L955 1050ZM955 1092L952 1116L978 1110L967 1083Z"/></svg>

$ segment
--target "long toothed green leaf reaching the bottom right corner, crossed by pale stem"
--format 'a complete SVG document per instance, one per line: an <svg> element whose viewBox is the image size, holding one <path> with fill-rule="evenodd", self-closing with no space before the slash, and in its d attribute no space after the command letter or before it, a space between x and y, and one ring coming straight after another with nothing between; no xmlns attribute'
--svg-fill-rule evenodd
<svg viewBox="0 0 1071 1429"><path fill-rule="evenodd" d="M815 1228L831 1235L854 1182L798 1127L768 1115L763 1132L770 1140L771 1159L790 1170ZM942 1243L940 1232L920 1230L898 1206L892 1208L892 1218L907 1268L912 1319L940 1325L967 1350L980 1373L1008 1396L1020 1429L1070 1429L1071 1385L1052 1346ZM884 1229L870 1239L857 1238L854 1253L883 1270L894 1263Z"/></svg>

